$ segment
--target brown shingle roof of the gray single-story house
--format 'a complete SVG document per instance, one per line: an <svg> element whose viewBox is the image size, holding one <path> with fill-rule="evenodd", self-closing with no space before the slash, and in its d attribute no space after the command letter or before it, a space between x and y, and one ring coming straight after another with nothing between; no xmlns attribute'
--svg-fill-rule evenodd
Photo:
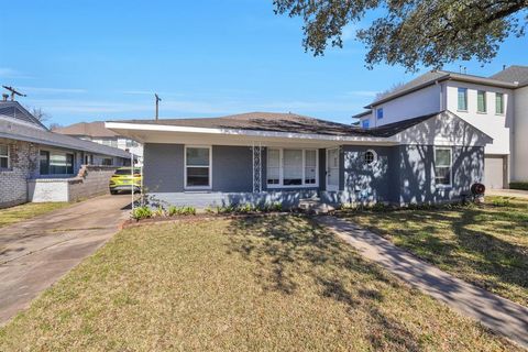
<svg viewBox="0 0 528 352"><path fill-rule="evenodd" d="M300 134L328 134L341 136L388 138L427 119L439 116L432 113L375 129L362 129L355 125L314 119L295 113L250 112L221 118L127 120L118 123L160 124L175 127L252 130L266 132L286 132Z"/></svg>

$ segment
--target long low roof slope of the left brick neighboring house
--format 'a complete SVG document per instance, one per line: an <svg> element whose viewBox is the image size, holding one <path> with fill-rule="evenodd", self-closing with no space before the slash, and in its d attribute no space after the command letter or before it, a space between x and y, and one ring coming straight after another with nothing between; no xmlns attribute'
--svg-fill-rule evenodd
<svg viewBox="0 0 528 352"><path fill-rule="evenodd" d="M0 118L0 138L64 147L74 151L85 151L95 154L130 158L129 153L117 147L54 133L48 130L41 129L34 124L24 123L15 119Z"/></svg>

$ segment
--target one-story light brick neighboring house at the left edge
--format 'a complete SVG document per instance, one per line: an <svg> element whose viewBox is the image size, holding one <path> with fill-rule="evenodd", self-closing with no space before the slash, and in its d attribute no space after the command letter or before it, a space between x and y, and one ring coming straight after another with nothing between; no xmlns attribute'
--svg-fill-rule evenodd
<svg viewBox="0 0 528 352"><path fill-rule="evenodd" d="M113 173L97 166L109 160L116 166L130 165L124 151L53 133L16 101L0 101L0 208L81 198L94 191L85 189L87 185L108 191L108 179L99 179L100 185L91 180L100 173ZM85 182L85 164L97 170L90 173L90 182ZM76 178L79 174L82 177Z"/></svg>

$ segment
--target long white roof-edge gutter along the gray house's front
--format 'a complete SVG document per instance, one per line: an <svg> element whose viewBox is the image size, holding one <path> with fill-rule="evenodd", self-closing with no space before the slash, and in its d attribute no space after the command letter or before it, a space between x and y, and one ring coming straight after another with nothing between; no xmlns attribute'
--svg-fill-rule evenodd
<svg viewBox="0 0 528 352"><path fill-rule="evenodd" d="M144 124L144 123L125 123L125 122L105 122L105 127L109 130L133 130L133 131L157 131L157 132L183 132L183 133L204 133L204 134L229 134L229 135L248 135L257 138L285 138L299 140L319 140L336 142L375 142L375 143L396 143L393 138L370 138L370 136L348 136L348 135L330 135L316 133L293 133L293 132L275 132L258 130L241 130L241 129L216 129L216 128L195 128L167 124Z"/></svg>

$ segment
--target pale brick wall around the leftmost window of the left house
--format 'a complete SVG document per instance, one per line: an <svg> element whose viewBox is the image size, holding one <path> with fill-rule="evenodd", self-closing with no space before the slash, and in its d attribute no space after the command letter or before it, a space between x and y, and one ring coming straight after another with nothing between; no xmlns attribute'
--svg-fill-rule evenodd
<svg viewBox="0 0 528 352"><path fill-rule="evenodd" d="M0 169L0 208L28 201L28 178L38 169L38 146L22 141L0 139L9 147L9 168Z"/></svg>

